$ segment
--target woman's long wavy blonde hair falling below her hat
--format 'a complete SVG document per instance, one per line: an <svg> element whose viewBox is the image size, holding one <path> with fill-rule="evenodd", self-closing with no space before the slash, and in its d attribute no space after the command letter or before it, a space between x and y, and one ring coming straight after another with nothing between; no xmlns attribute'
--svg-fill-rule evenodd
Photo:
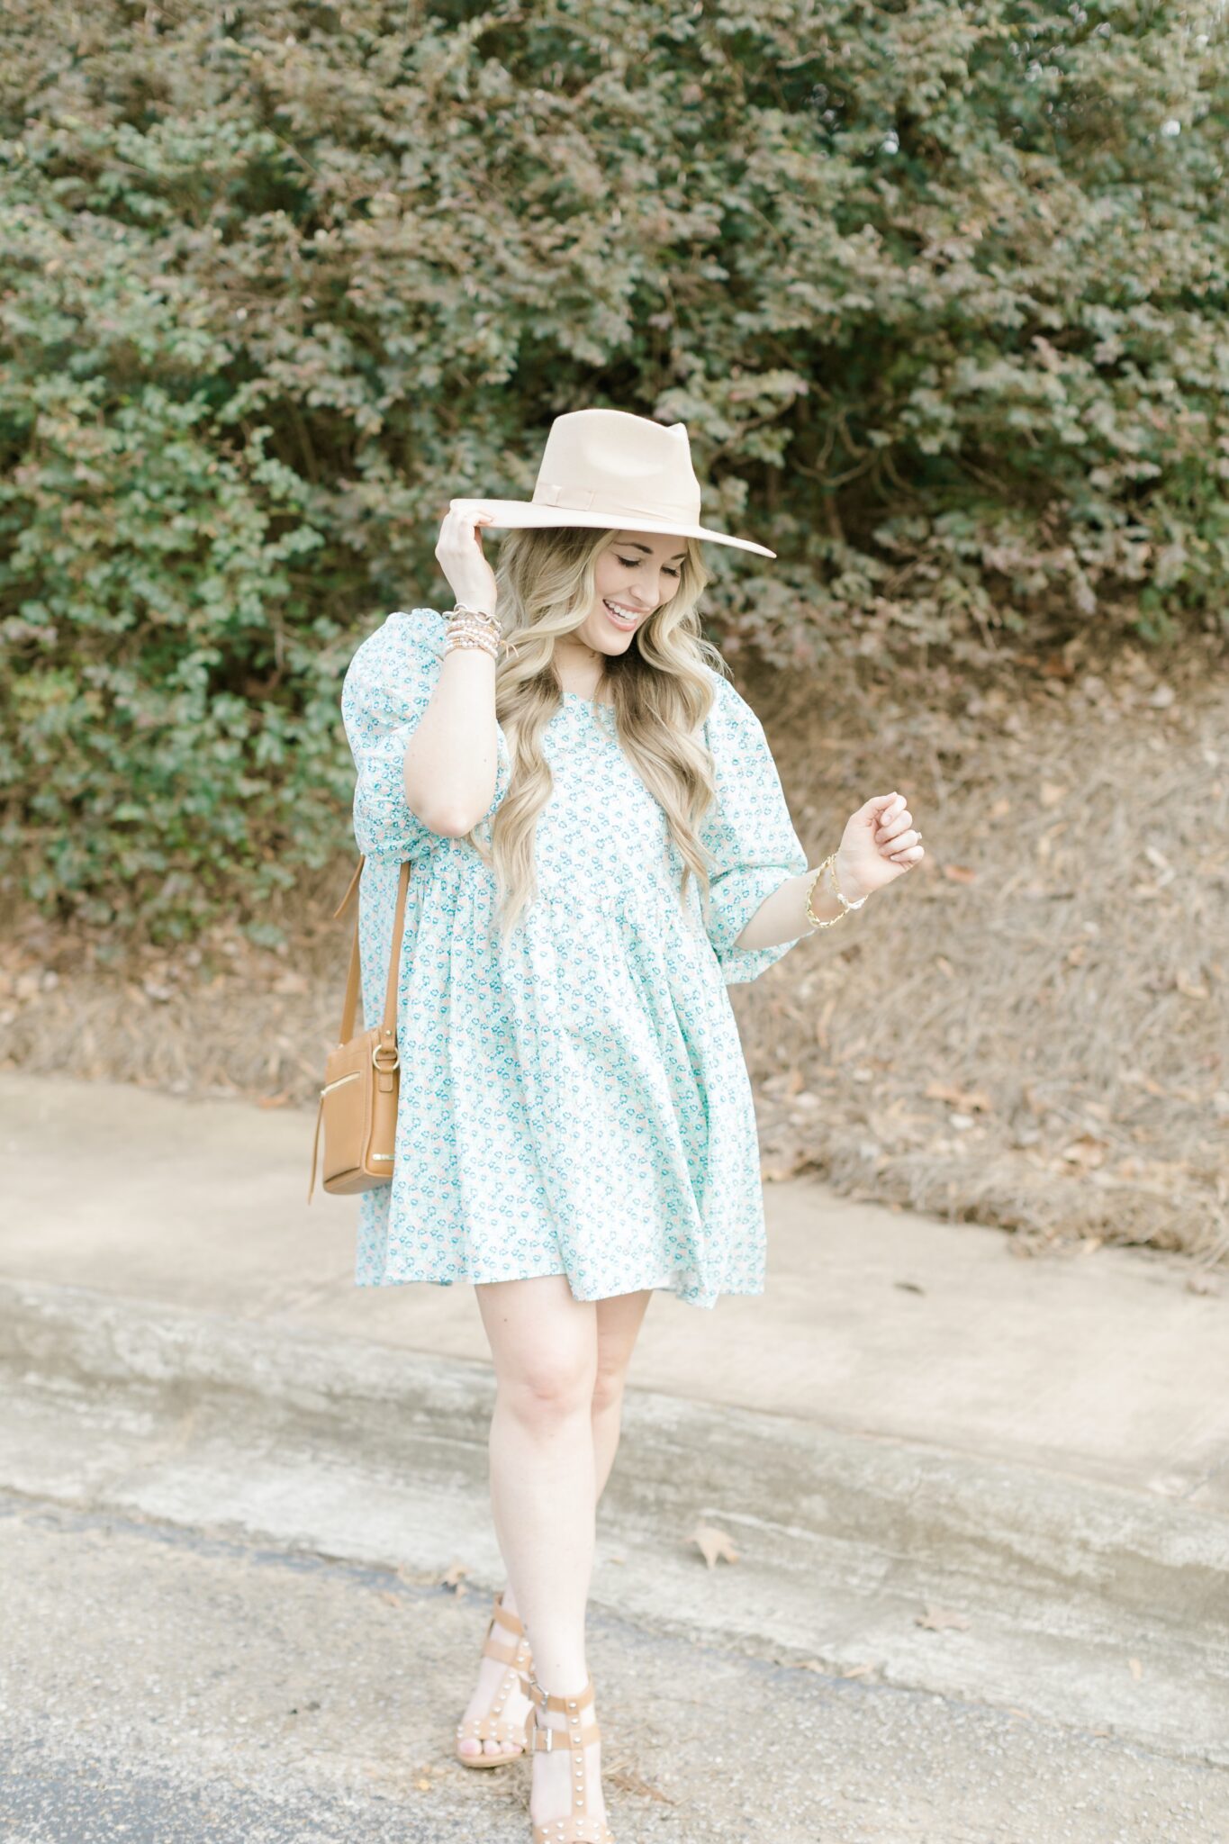
<svg viewBox="0 0 1229 1844"><path fill-rule="evenodd" d="M496 669L496 721L512 751L512 776L490 822L490 848L475 826L464 837L496 872L496 900L507 939L536 898L534 826L551 798L542 732L560 706L555 642L571 634L597 599L597 559L614 531L575 526L509 531L496 564L497 607L510 647ZM632 645L606 662L603 686L614 704L619 743L660 802L684 861L685 902L695 874L708 892L708 859L698 826L713 798L713 758L700 728L715 688L704 668L726 677L726 662L700 631L696 603L709 581L695 538L684 540L678 586L636 631Z"/></svg>

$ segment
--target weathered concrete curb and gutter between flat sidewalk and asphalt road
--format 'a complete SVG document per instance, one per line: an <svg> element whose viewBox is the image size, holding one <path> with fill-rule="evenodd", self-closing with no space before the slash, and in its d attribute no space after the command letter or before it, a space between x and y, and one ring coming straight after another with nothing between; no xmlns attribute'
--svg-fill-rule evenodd
<svg viewBox="0 0 1229 1844"><path fill-rule="evenodd" d="M0 1368L11 1490L501 1580L485 1365L0 1283ZM1172 1499L628 1389L593 1601L1229 1765L1229 1519Z"/></svg>

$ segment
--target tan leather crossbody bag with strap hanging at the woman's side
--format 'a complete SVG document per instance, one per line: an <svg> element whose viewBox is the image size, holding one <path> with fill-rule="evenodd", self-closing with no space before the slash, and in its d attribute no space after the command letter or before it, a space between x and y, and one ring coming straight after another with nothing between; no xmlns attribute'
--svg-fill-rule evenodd
<svg viewBox="0 0 1229 1844"><path fill-rule="evenodd" d="M369 1031L354 1034L354 1012L359 999L359 918L354 916L350 972L346 998L341 1007L341 1036L324 1064L324 1088L315 1112L315 1141L311 1145L311 1184L324 1129L324 1160L321 1184L326 1191L348 1197L354 1191L374 1191L392 1180L392 1149L396 1145L396 1101L400 1093L400 1055L396 1047L396 987L402 968L402 935L405 929L405 894L409 891L409 861L402 865L392 916L392 953L389 955L389 983L383 996L383 1018ZM350 889L334 909L345 913L357 891L363 859L350 878Z"/></svg>

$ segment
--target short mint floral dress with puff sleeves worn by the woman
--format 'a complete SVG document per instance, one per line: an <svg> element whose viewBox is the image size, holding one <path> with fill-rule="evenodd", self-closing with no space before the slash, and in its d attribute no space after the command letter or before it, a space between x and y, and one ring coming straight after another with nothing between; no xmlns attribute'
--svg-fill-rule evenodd
<svg viewBox="0 0 1229 1844"><path fill-rule="evenodd" d="M704 1307L763 1293L759 1143L726 987L802 939L735 946L765 896L807 869L763 727L711 671L711 898L704 911L693 876L684 911L682 857L614 710L566 692L544 732L555 786L534 841L540 894L501 946L494 870L429 832L402 782L444 629L433 609L391 614L341 695L367 856L369 1022L383 1012L398 869L413 861L394 1169L359 1195L356 1283L566 1274L577 1300L665 1287ZM510 773L497 728L486 839Z"/></svg>

